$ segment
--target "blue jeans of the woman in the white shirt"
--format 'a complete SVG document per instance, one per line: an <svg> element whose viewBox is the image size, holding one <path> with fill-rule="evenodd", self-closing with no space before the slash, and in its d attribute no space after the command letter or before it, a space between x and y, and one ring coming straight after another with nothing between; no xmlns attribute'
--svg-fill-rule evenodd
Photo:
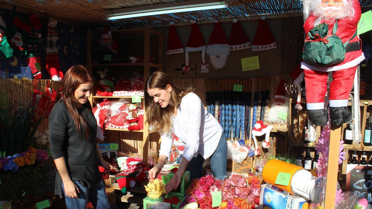
<svg viewBox="0 0 372 209"><path fill-rule="evenodd" d="M211 161L213 176L220 180L226 179L227 141L224 132L222 132L218 146L209 160ZM202 177L203 165L204 158L200 154L190 160L186 167L186 171L190 171L190 180Z"/></svg>

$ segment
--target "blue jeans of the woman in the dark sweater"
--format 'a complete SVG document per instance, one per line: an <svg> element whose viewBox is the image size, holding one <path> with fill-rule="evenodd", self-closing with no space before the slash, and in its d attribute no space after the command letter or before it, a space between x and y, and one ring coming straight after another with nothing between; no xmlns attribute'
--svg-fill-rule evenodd
<svg viewBox="0 0 372 209"><path fill-rule="evenodd" d="M80 193L77 193L78 198L71 198L65 195L66 206L68 209L85 209L88 199L96 209L110 208L109 200L107 199L105 185L103 180L100 180L94 185L93 188L88 189L83 187L79 181L74 181ZM65 193L62 182L62 190Z"/></svg>

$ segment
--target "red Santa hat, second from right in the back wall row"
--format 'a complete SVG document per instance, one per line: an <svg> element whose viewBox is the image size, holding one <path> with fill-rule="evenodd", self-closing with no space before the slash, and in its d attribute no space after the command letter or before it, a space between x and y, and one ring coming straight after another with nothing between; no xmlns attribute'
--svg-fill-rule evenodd
<svg viewBox="0 0 372 209"><path fill-rule="evenodd" d="M228 46L230 51L251 48L251 42L236 18L232 20Z"/></svg>

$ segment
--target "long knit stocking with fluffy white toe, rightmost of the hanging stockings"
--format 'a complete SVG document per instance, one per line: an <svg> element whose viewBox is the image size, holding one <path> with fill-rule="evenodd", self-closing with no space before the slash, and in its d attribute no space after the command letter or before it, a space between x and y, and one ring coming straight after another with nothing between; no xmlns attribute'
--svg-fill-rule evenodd
<svg viewBox="0 0 372 209"><path fill-rule="evenodd" d="M58 59L57 39L54 33L54 27L57 25L57 20L49 17L48 20L48 34L47 34L47 55L45 62L47 64L47 71L54 81L62 81L63 73L60 68L60 61Z"/></svg>

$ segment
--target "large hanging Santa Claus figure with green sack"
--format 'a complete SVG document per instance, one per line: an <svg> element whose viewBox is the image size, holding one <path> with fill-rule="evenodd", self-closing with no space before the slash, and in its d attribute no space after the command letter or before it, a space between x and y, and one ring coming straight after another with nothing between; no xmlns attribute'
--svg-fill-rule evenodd
<svg viewBox="0 0 372 209"><path fill-rule="evenodd" d="M328 72L333 72L329 106L331 124L352 120L347 109L357 65L364 60L356 35L361 11L358 0L304 0L311 15L304 24L303 62L308 119L315 125L328 122L324 109Z"/></svg>

